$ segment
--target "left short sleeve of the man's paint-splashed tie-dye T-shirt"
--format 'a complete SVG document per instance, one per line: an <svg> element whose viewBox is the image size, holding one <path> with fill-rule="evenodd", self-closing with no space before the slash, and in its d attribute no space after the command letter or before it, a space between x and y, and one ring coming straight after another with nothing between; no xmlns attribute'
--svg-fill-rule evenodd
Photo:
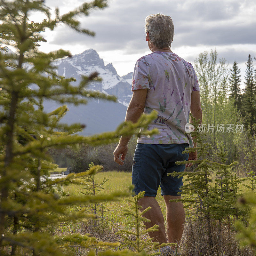
<svg viewBox="0 0 256 256"><path fill-rule="evenodd" d="M148 65L142 60L137 60L132 75L132 92L138 89L149 89Z"/></svg>

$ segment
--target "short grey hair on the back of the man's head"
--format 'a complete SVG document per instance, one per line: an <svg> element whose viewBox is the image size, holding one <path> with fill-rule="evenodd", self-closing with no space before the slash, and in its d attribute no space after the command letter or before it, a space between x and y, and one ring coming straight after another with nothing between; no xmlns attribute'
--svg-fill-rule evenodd
<svg viewBox="0 0 256 256"><path fill-rule="evenodd" d="M148 31L149 42L157 48L171 47L174 26L170 16L162 13L150 14L145 19L145 33Z"/></svg>

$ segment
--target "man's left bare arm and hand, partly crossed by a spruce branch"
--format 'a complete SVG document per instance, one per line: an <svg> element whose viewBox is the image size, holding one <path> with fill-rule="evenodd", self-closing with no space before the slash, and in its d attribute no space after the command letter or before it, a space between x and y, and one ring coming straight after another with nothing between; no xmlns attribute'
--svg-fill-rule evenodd
<svg viewBox="0 0 256 256"><path fill-rule="evenodd" d="M145 107L146 97L147 97L148 89L139 89L134 90L132 94L132 99L129 103L129 106L126 111L125 121L132 121L132 123L136 123L140 116L142 115ZM121 159L124 160L125 155L127 154L128 150L128 142L132 138L131 136L124 137L122 136L119 140L119 144L117 145L114 151L114 161L120 165L123 165L119 159L119 155L121 154Z"/></svg>

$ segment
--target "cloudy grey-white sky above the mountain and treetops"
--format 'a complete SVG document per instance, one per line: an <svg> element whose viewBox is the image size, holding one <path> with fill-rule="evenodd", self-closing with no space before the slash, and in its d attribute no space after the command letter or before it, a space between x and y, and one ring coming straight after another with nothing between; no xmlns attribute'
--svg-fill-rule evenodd
<svg viewBox="0 0 256 256"><path fill-rule="evenodd" d="M45 4L52 11L59 6L63 14L83 2L46 0ZM255 0L109 0L108 7L79 18L83 28L96 33L94 37L60 25L55 31L44 33L48 42L42 43L40 50L62 48L77 54L93 48L105 65L112 62L122 76L133 71L137 59L150 53L144 20L158 12L172 17L172 51L189 62L193 63L200 52L216 48L219 57L231 64L236 60L244 75L248 54L256 56ZM36 14L31 20L40 18Z"/></svg>

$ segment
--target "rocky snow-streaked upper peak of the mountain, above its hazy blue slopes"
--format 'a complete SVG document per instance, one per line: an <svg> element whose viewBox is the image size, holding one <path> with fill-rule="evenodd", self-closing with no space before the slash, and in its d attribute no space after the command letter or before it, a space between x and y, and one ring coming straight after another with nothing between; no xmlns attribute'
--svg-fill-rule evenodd
<svg viewBox="0 0 256 256"><path fill-rule="evenodd" d="M66 77L75 77L77 82L80 81L81 75L89 75L93 71L98 71L102 82L93 82L89 89L99 90L111 95L116 95L118 102L124 106L128 106L132 97L132 72L124 76L119 76L112 63L104 65L104 61L100 59L99 54L88 49L80 54L73 55L72 58L65 58L56 61L58 66L58 74Z"/></svg>

